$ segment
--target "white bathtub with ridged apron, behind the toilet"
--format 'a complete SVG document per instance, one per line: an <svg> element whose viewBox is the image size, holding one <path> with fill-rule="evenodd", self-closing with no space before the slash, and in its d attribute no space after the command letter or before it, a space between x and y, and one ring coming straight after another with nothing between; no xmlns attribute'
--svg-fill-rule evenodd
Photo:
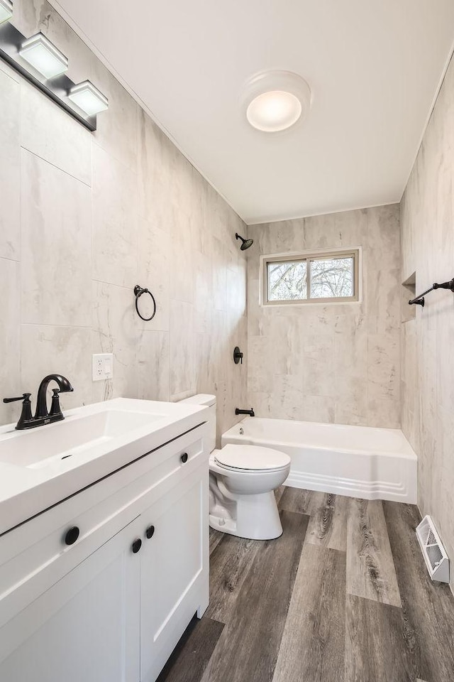
<svg viewBox="0 0 454 682"><path fill-rule="evenodd" d="M227 443L287 453L292 466L285 485L416 503L416 455L397 428L246 417L223 433Z"/></svg>

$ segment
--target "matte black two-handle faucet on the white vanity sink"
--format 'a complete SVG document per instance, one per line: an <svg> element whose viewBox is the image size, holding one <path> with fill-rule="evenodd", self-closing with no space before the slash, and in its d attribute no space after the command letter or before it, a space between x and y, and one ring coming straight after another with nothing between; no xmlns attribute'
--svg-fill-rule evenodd
<svg viewBox="0 0 454 682"><path fill-rule="evenodd" d="M58 388L52 389L52 404L50 405L50 412L48 413L48 401L46 394L50 381L56 381ZM12 403L16 400L23 400L22 413L19 417L18 423L16 424L16 428L19 430L23 428L35 428L35 426L51 424L54 421L61 421L65 418L60 409L60 400L58 394L68 393L69 391L74 391L74 389L66 377L62 377L61 374L48 374L48 376L44 377L43 381L41 381L40 387L38 389L38 399L36 400L36 412L34 417L31 413L31 393L24 393L18 398L4 398L3 401L4 403Z"/></svg>

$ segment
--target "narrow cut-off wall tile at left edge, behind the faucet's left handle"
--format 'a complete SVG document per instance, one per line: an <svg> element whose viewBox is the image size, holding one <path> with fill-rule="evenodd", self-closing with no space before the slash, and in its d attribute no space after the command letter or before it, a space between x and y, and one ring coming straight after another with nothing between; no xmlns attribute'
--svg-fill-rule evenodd
<svg viewBox="0 0 454 682"><path fill-rule="evenodd" d="M19 291L19 264L0 258L0 386L2 398L25 393L20 377L20 322L21 296ZM0 400L0 423L16 418L17 405L5 405ZM17 416L18 418L18 416Z"/></svg>

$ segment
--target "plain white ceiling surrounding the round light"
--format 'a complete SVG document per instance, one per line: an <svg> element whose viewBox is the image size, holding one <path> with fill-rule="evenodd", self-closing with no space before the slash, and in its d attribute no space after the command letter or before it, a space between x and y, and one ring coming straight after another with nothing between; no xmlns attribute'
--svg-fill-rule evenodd
<svg viewBox="0 0 454 682"><path fill-rule="evenodd" d="M453 0L51 1L248 224L399 201L454 40ZM313 104L273 136L240 95L275 69Z"/></svg>

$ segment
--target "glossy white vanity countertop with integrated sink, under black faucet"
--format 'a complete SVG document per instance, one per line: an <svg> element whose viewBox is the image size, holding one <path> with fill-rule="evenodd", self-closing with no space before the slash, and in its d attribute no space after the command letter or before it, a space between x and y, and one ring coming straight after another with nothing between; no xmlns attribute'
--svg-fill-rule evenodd
<svg viewBox="0 0 454 682"><path fill-rule="evenodd" d="M0 535L206 422L190 403L116 398L26 431L0 427Z"/></svg>

